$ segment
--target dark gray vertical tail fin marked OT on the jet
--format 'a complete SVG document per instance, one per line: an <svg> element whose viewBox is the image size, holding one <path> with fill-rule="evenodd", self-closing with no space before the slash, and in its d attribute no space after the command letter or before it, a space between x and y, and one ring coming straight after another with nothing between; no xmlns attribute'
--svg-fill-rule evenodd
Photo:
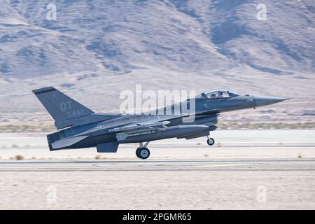
<svg viewBox="0 0 315 224"><path fill-rule="evenodd" d="M32 92L55 121L78 118L94 113L54 87L43 87Z"/></svg>

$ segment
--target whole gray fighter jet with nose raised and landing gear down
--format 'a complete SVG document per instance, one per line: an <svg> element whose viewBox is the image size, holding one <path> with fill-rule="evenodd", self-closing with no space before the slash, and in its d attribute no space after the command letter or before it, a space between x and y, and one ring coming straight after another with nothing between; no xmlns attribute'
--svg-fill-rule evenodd
<svg viewBox="0 0 315 224"><path fill-rule="evenodd" d="M47 135L50 151L96 147L99 153L116 153L119 144L137 143L136 155L143 160L150 156L147 148L150 141L207 137L207 144L213 146L214 139L209 134L216 130L220 113L255 109L286 100L213 90L150 113L110 114L95 113L55 87L43 87L32 92L59 130ZM181 109L183 105L189 110ZM178 113L173 113L176 108L180 108Z"/></svg>

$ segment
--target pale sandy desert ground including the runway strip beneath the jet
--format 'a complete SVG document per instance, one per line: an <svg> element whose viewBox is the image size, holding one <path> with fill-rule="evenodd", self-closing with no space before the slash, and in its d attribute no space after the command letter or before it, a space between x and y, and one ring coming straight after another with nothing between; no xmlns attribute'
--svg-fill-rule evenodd
<svg viewBox="0 0 315 224"><path fill-rule="evenodd" d="M315 209L314 136L223 130L139 160L136 144L50 152L45 133L1 134L0 209Z"/></svg>

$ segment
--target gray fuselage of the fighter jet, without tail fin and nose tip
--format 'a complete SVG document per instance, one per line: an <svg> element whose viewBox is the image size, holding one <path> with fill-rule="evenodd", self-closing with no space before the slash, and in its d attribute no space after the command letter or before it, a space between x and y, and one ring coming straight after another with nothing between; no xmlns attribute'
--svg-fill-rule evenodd
<svg viewBox="0 0 315 224"><path fill-rule="evenodd" d="M194 109L189 108L192 106L191 102L193 101L195 101ZM207 99L199 96L193 99L188 99L185 102L173 104L172 106L167 106L160 110L155 110L148 113L132 115L120 114L117 116L112 116L106 120L97 121L95 123L69 127L65 130L48 135L48 143L56 141L57 139L88 135L88 137L82 141L79 141L72 146L65 147L87 148L113 141L118 141L120 144L137 143L143 141L188 136L189 134L193 134L195 132L209 133L209 131L216 129L214 125L218 123L219 113L255 108L259 104L258 101L259 99L249 95L223 99ZM182 109L180 109L180 111L176 111L177 108L181 108L184 104L185 106L188 104L186 107L189 108L189 114L183 113ZM94 116L102 116L102 114L94 114ZM189 116L192 116L193 118L185 119ZM160 120L169 121L169 123L165 125L164 129L162 128L160 130L152 131L151 128L148 127L148 130L141 130L141 135L132 134L132 132L129 133L130 137L127 137L127 139L119 139L119 135L116 132L110 131L113 127L123 127L133 123L152 123ZM202 125L207 125L209 128L204 128Z"/></svg>

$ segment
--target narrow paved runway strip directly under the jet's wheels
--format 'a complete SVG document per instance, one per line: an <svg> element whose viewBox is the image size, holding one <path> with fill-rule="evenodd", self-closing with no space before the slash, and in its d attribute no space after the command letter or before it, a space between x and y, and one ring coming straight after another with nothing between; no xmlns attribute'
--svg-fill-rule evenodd
<svg viewBox="0 0 315 224"><path fill-rule="evenodd" d="M2 161L1 172L315 171L315 159Z"/></svg>

